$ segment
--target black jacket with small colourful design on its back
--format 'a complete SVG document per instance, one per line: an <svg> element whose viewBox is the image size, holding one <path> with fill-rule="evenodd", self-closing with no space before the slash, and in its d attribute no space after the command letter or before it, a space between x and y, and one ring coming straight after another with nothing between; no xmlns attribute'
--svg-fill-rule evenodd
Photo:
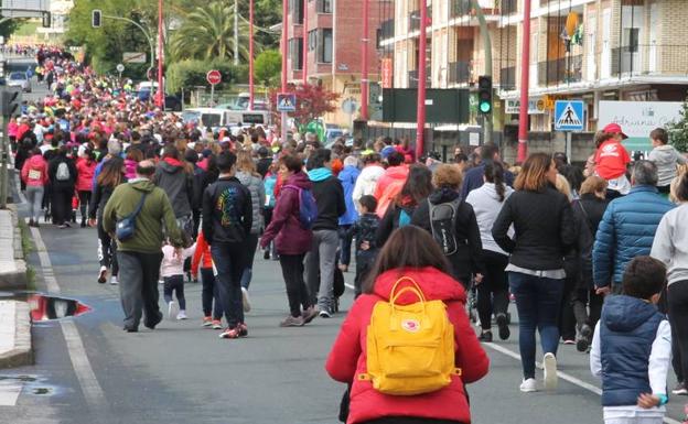
<svg viewBox="0 0 688 424"><path fill-rule="evenodd" d="M208 244L241 243L250 233L250 192L239 181L223 177L203 194L203 236Z"/></svg>

